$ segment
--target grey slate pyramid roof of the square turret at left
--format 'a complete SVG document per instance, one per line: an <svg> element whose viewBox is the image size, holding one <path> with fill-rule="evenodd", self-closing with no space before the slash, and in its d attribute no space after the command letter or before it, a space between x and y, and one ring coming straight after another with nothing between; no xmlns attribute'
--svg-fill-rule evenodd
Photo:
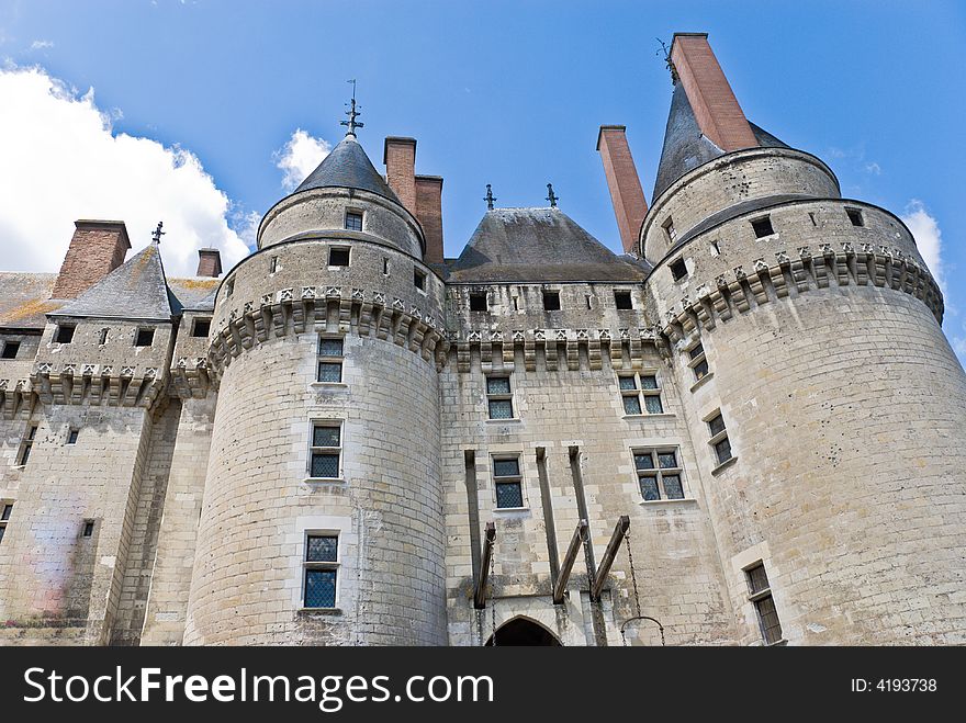
<svg viewBox="0 0 966 723"><path fill-rule="evenodd" d="M158 245L150 244L50 315L170 320L171 300Z"/></svg>

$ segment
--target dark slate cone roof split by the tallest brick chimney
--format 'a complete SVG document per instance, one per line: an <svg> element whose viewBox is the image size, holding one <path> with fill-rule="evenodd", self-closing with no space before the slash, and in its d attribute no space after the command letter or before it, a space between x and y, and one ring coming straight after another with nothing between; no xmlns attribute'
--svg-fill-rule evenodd
<svg viewBox="0 0 966 723"><path fill-rule="evenodd" d="M749 125L761 147L788 148L767 131L751 122ZM724 150L701 134L684 86L677 83L671 97L671 111L664 131L664 147L661 150L661 162L658 163L658 178L651 203L653 204L654 200L682 176L723 155Z"/></svg>

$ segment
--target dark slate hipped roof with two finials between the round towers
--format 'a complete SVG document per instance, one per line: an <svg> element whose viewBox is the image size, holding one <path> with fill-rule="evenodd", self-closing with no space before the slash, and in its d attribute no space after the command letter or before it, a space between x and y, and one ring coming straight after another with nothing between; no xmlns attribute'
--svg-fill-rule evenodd
<svg viewBox="0 0 966 723"><path fill-rule="evenodd" d="M487 211L448 281L641 281L648 267L619 257L559 208Z"/></svg>

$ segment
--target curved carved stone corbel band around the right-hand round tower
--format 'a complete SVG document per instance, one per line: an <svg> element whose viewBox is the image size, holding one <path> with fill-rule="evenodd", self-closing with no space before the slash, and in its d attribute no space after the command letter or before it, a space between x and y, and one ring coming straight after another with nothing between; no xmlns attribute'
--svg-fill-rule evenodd
<svg viewBox="0 0 966 723"><path fill-rule="evenodd" d="M755 259L751 268L735 267L714 282L697 286L696 298L685 296L665 310L662 331L677 342L697 326L712 329L718 319L726 321L754 306L830 285L878 286L905 292L922 300L943 320L943 295L923 264L898 249L873 244L843 241L835 250L831 244L818 248L800 247L797 255L775 251L775 262Z"/></svg>

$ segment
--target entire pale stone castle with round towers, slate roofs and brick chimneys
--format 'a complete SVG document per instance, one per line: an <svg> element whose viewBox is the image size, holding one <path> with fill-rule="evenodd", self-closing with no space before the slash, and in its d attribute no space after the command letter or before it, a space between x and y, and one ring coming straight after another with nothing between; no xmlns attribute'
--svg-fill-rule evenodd
<svg viewBox="0 0 966 723"><path fill-rule="evenodd" d="M442 253L348 133L226 273L78 221L0 273L0 643L966 642L966 375L909 229L677 34L618 256L557 206ZM160 228L159 228L160 231Z"/></svg>

